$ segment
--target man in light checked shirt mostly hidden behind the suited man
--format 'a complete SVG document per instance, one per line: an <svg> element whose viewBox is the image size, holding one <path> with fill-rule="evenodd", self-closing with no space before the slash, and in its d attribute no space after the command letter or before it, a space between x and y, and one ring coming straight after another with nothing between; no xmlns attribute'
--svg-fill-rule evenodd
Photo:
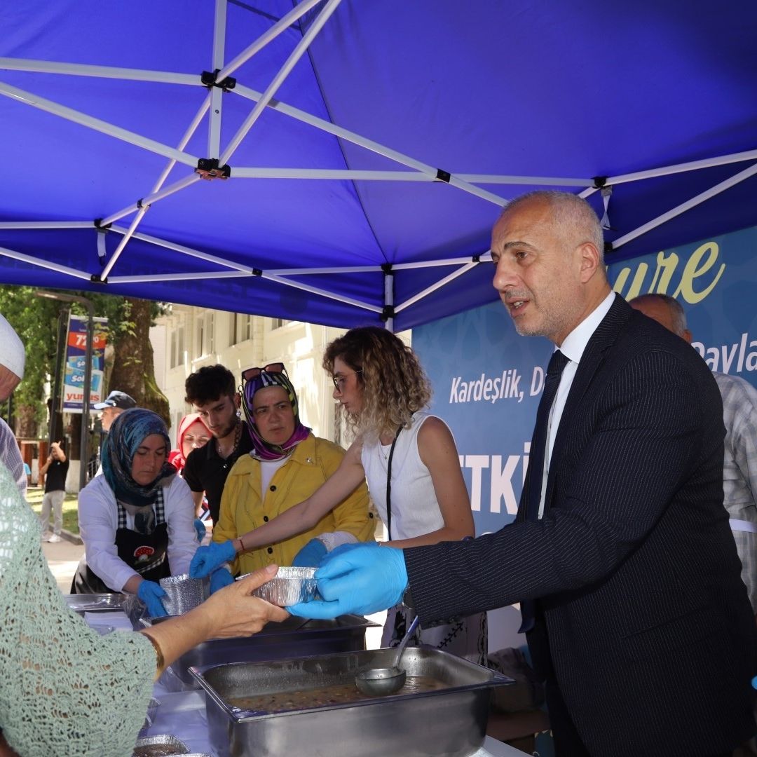
<svg viewBox="0 0 757 757"><path fill-rule="evenodd" d="M669 294L642 294L628 304L691 344L684 308ZM712 373L723 397L723 503L757 619L757 389L739 376Z"/></svg>

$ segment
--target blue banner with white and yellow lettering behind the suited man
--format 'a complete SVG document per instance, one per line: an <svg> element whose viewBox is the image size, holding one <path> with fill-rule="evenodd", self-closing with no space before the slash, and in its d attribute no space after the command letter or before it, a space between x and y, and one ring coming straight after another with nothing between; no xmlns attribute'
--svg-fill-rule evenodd
<svg viewBox="0 0 757 757"><path fill-rule="evenodd" d="M609 279L626 299L677 298L709 367L757 385L755 250L757 228L745 229L611 264ZM413 329L413 348L434 387L433 411L455 435L476 531L496 531L516 512L553 345L517 335L493 303Z"/></svg>

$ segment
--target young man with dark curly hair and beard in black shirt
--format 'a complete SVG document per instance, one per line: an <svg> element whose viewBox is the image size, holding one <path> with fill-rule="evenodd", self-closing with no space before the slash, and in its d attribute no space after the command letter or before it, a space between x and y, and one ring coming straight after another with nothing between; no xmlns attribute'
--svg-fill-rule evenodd
<svg viewBox="0 0 757 757"><path fill-rule="evenodd" d="M187 457L184 479L199 508L207 497L210 517L218 521L221 494L229 470L241 455L252 449L252 441L239 417L239 394L234 374L226 367L204 366L187 378L185 400L210 428L213 438Z"/></svg>

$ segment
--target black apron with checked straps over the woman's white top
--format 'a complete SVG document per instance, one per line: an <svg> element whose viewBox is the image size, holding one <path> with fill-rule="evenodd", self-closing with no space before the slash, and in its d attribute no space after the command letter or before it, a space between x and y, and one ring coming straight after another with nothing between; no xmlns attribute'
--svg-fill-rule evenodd
<svg viewBox="0 0 757 757"><path fill-rule="evenodd" d="M148 534L126 528L126 509L119 502L118 528L114 544L122 559L129 568L136 570L145 581L159 581L171 575L168 564L168 525L165 519L163 504L163 488L157 490L157 500L154 504L154 525L146 530ZM76 574L71 584L72 594L117 593L104 584L104 581L89 568L86 556L79 561Z"/></svg>

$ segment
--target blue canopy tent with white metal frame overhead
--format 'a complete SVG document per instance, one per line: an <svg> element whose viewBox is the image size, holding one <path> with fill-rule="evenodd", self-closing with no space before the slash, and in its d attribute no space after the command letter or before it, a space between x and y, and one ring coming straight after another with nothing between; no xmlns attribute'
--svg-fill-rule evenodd
<svg viewBox="0 0 757 757"><path fill-rule="evenodd" d="M16 0L0 282L395 330L556 187L607 260L757 225L757 4ZM208 179L208 180L203 180Z"/></svg>

